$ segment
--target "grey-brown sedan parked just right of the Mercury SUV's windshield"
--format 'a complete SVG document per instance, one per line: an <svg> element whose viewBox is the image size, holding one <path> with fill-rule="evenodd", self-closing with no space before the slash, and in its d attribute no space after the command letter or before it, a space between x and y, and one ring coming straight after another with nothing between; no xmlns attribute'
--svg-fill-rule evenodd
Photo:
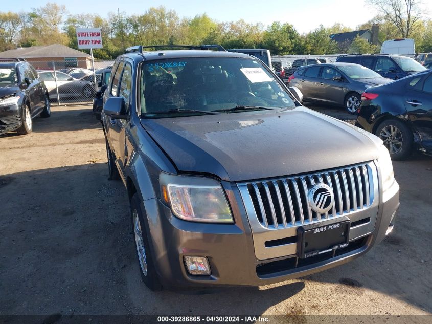
<svg viewBox="0 0 432 324"><path fill-rule="evenodd" d="M304 101L344 106L348 113L355 114L361 94L368 87L391 81L359 64L325 63L298 69L288 84L302 92Z"/></svg>

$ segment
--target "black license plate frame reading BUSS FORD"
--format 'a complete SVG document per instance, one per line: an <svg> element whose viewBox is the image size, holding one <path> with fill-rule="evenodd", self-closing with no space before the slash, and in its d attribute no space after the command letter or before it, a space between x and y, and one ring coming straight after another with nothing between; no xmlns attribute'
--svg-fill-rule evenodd
<svg viewBox="0 0 432 324"><path fill-rule="evenodd" d="M297 256L308 258L348 246L350 220L339 217L297 229Z"/></svg>

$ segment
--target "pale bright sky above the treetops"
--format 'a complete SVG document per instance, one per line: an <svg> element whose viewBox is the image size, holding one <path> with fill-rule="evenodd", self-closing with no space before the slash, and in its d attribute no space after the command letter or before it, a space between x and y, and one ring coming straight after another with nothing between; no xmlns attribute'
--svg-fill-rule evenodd
<svg viewBox="0 0 432 324"><path fill-rule="evenodd" d="M31 8L44 6L45 0L20 0L13 2L0 0L0 11L31 11ZM107 17L108 12L116 12L117 8L127 14L144 13L150 7L164 6L173 9L181 17L194 17L207 13L218 21L236 21L244 19L248 23L261 22L269 25L272 21L294 25L299 33L307 33L320 24L325 27L340 23L355 29L357 25L365 23L377 12L365 5L364 0L165 0L151 2L137 0L51 0L63 4L71 14L93 13ZM432 1L425 2L429 12L432 12Z"/></svg>

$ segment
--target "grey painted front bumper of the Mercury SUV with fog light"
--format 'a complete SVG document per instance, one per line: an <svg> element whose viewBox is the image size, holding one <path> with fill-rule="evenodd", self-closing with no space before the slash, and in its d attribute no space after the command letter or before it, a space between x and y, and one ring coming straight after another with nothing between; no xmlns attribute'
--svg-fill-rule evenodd
<svg viewBox="0 0 432 324"><path fill-rule="evenodd" d="M225 185L225 189L227 186ZM399 207L399 186L379 197L373 230L350 239L348 247L307 259L295 254L258 260L246 210L240 193L226 190L235 224L203 224L180 220L158 199L146 200L144 210L151 233L151 245L156 271L163 285L190 286L262 286L323 271L366 253L392 229ZM351 237L351 235L350 235ZM210 276L187 273L183 257L207 256Z"/></svg>

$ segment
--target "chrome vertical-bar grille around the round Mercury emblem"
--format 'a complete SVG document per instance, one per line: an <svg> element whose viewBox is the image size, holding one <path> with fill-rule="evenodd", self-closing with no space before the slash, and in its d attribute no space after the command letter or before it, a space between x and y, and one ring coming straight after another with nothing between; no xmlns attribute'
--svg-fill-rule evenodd
<svg viewBox="0 0 432 324"><path fill-rule="evenodd" d="M297 177L239 184L242 196L249 195L256 217L264 228L278 229L330 219L365 209L373 203L371 163L315 172ZM334 204L320 214L308 202L309 189L325 183L333 190ZM243 197L243 200L245 197ZM249 217L251 215L249 214Z"/></svg>

